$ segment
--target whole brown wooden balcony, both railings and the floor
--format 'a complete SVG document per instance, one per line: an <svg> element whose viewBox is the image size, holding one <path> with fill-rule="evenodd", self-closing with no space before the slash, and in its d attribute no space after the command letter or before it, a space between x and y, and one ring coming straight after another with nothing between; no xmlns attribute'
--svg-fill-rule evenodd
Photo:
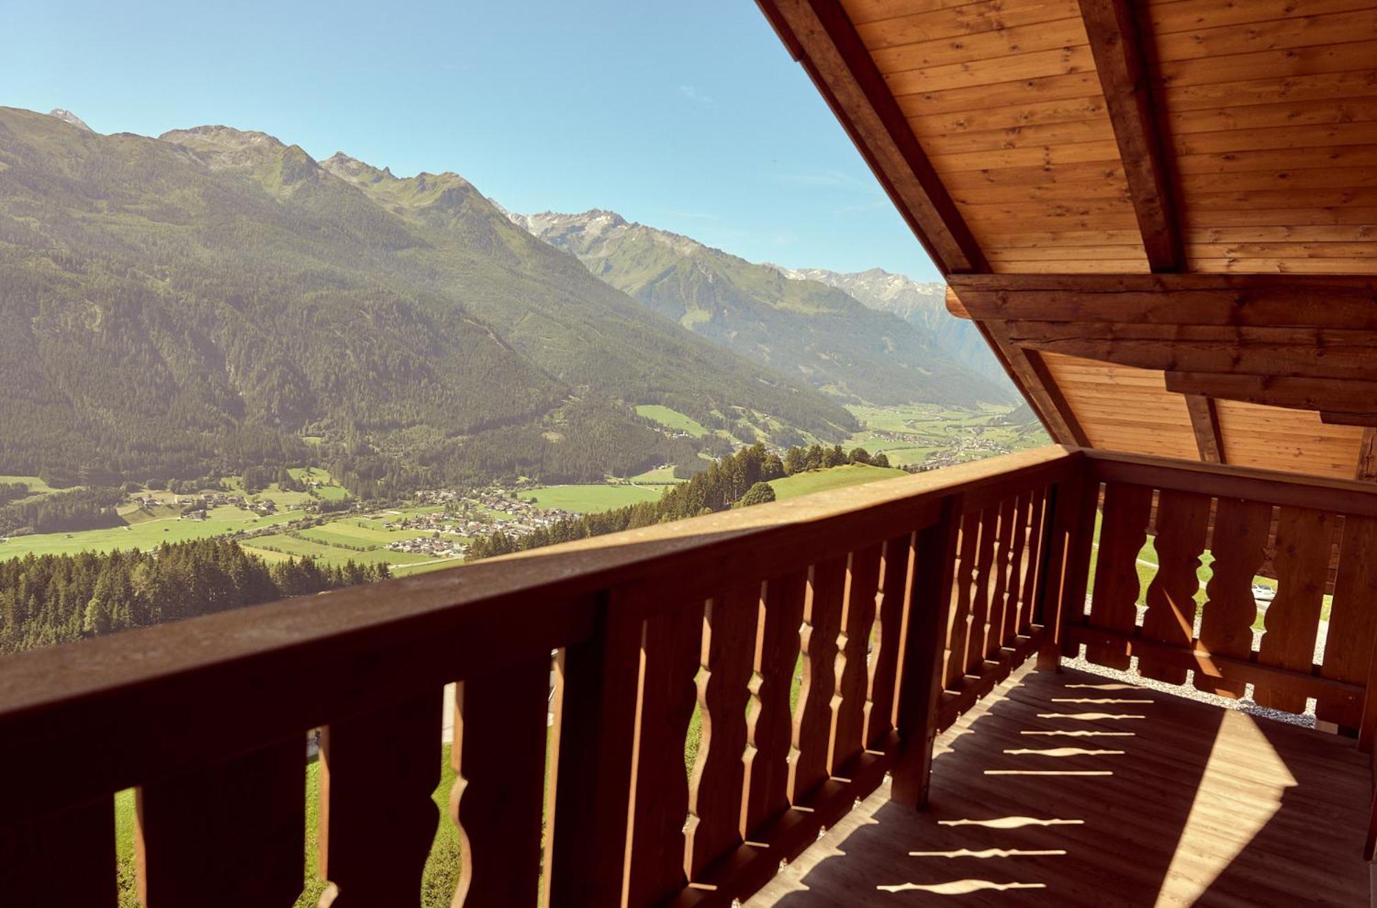
<svg viewBox="0 0 1377 908"><path fill-rule="evenodd" d="M1254 647L1261 570L1279 592ZM460 827L470 907L861 904L963 879L1045 886L976 896L1008 904L1294 904L1294 874L1351 904L1374 596L1371 484L1052 447L26 653L0 663L0 893L116 905L112 799L136 787L151 908L285 908L307 875L326 905L416 905L439 823ZM1027 674L1082 647L1275 710L1314 699L1347 736ZM1084 715L1111 707L1148 718ZM1092 753L1037 753L1062 747ZM1053 759L1078 775L1023 775ZM1009 816L1082 823L949 823ZM990 847L1066 854L907 854Z"/></svg>

